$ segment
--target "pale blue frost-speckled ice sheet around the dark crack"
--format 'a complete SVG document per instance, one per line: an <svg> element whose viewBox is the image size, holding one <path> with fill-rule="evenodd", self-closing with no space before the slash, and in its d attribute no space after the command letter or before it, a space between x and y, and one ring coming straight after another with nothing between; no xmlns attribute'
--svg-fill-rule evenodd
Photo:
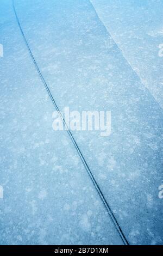
<svg viewBox="0 0 163 256"><path fill-rule="evenodd" d="M111 111L109 137L73 138L127 241L162 244L163 4L128 2L15 0L31 56L0 1L2 245L124 243L36 65L60 110Z"/></svg>

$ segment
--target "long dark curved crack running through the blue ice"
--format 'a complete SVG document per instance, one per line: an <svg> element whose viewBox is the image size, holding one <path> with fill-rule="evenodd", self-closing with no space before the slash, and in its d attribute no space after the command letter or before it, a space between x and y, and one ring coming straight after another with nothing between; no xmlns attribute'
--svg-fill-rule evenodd
<svg viewBox="0 0 163 256"><path fill-rule="evenodd" d="M112 222L114 223L114 225L115 225L115 227L116 227L116 229L117 229L117 231L118 231L118 234L121 236L121 239L122 239L124 245L129 245L129 242L128 242L127 239L126 239L126 236L123 234L123 231L122 231L120 225L118 224L118 222L117 222L117 220L116 220L116 217L114 216L114 214L113 214L113 212L112 212L112 210L111 210L109 204L106 202L106 199L105 199L105 197L104 197L104 195L103 195L103 193L102 193L102 191L101 191L101 188L99 188L99 186L98 186L98 184L97 184L97 182L96 182L96 180L95 180L95 178L94 178L94 176L93 176L93 174L92 174L92 172L91 172L89 166L87 165L87 163L86 163L86 161L85 161L85 159L84 159L84 156L83 156L82 152L80 151L80 149L79 149L79 147L78 147L77 142L75 141L75 139L74 139L74 137L73 137L71 131L68 129L68 126L67 126L67 124L66 124L66 122L65 122L65 119L64 119L64 117L62 116L62 114L61 114L61 112L60 112L60 110L59 110L59 108L58 108L58 106L57 106L57 103L55 102L55 100L54 100L54 98L53 98L53 96L52 96L52 94L51 94L51 91L50 91L49 88L48 88L48 85L47 85L45 79L43 78L43 76L42 76L42 74L41 74L41 71L40 71L40 69L39 69L39 66L37 65L37 63L36 63L36 61L35 61L35 58L34 58L34 56L33 56L33 53L32 53L32 51L30 50L30 47L29 47L29 45L28 45L26 36L24 35L24 33L23 33L23 31L22 31L22 28L21 28L21 25L20 25L20 22L19 22L19 20L18 20L18 16L17 16L17 13L16 13L15 5L14 5L14 0L12 0L12 5L13 5L14 13L15 13L16 20L17 20L17 23L18 23L18 27L20 28L20 31L21 31L21 34L22 34L22 36L23 36L24 42L26 43L26 46L27 46L28 51L29 51L29 53L30 53L30 57L32 58L32 60L33 60L33 62L34 62L35 68L36 68L37 72L38 72L39 75L40 75L40 78L41 78L41 80L42 80L42 82L43 82L43 84L44 84L44 86L45 86L45 88L46 88L46 90L47 90L47 92L48 92L48 95L49 95L49 97L51 98L55 109L57 110L58 114L60 115L60 118L62 119L62 121L63 121L63 123L64 123L64 125L65 125L65 128L66 128L66 130L67 130L67 133L68 133L68 135L70 136L71 141L73 142L74 147L76 148L76 150L77 150L77 152L78 152L78 154L79 154L79 157L80 157L80 159L82 160L82 162L83 162L83 164L84 164L84 167L85 167L87 173L89 174L89 176L90 176L90 178L91 178L91 180L92 180L92 182L93 182L93 185L96 187L96 190L97 190L97 192L98 192L98 194L99 194L99 197L102 199L102 202L104 203L105 208L106 208L106 210L108 211L108 214L109 214L109 216L111 217L111 220L112 220Z"/></svg>

